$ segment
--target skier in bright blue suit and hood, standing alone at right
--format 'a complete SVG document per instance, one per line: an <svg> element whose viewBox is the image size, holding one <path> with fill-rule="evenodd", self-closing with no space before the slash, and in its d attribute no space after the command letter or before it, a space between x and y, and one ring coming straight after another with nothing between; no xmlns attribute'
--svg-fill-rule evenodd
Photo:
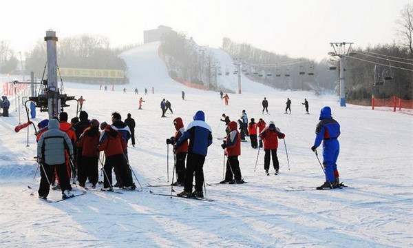
<svg viewBox="0 0 413 248"><path fill-rule="evenodd" d="M315 128L314 145L311 149L315 152L315 149L323 141L323 165L326 182L317 189L332 189L341 186L337 170L337 158L340 152L340 144L337 138L340 136L340 124L332 118L331 109L328 106L321 109L319 120Z"/></svg>

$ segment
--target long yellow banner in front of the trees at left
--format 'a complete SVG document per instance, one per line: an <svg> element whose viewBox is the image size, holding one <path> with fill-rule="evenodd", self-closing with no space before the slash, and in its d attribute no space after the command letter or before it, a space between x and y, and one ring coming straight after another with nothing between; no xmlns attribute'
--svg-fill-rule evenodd
<svg viewBox="0 0 413 248"><path fill-rule="evenodd" d="M123 79L123 70L59 68L61 76Z"/></svg>

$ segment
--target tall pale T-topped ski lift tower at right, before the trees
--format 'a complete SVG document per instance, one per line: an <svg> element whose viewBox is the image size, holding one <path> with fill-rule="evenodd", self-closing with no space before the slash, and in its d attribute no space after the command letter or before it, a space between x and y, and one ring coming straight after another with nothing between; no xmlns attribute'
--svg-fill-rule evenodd
<svg viewBox="0 0 413 248"><path fill-rule="evenodd" d="M340 106L346 107L346 87L344 78L344 64L346 63L346 56L350 52L352 42L330 42L334 52L329 52L331 56L338 56L340 59ZM346 45L349 45L346 48Z"/></svg>

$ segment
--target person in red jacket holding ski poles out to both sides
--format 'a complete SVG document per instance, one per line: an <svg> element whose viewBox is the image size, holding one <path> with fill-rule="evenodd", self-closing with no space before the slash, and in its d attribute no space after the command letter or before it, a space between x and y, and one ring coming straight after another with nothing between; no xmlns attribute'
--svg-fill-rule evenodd
<svg viewBox="0 0 413 248"><path fill-rule="evenodd" d="M268 169L270 169L270 159L273 156L273 166L275 169L275 174L278 174L279 163L277 157L278 148L278 138L284 138L286 135L283 134L278 127L275 127L273 121L270 121L270 125L264 128L260 133L260 137L264 141L264 169L265 173L268 175Z"/></svg>

